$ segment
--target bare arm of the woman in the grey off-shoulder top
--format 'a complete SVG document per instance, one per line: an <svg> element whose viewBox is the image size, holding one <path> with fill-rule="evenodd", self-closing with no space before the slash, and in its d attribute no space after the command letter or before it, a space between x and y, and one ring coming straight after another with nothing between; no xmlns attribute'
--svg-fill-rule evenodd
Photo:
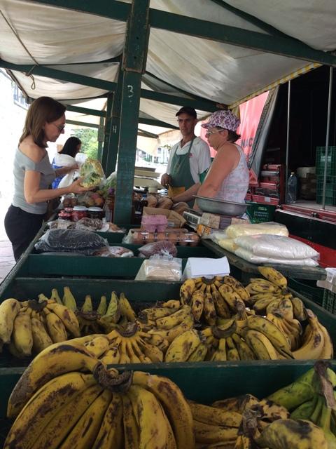
<svg viewBox="0 0 336 449"><path fill-rule="evenodd" d="M61 189L40 189L40 180L41 173L34 170L26 170L24 192L27 203L42 203L43 201L57 198L57 196L69 193L79 194L89 190L80 186L80 179L76 180L68 187L62 187Z"/></svg>

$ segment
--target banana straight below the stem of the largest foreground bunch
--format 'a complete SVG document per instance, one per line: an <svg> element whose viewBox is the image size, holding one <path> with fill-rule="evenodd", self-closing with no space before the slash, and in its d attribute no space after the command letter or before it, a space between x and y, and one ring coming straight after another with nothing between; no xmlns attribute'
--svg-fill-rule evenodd
<svg viewBox="0 0 336 449"><path fill-rule="evenodd" d="M90 448L119 449L123 447L123 439L123 401L119 394L113 393L112 400L104 415L96 441L94 441ZM71 447L69 447L69 449L71 449Z"/></svg>

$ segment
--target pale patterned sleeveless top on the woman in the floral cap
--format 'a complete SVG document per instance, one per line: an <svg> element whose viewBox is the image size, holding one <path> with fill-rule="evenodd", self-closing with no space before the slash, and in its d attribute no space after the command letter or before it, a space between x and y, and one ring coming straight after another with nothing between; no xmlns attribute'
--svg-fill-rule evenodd
<svg viewBox="0 0 336 449"><path fill-rule="evenodd" d="M239 145L233 144L237 148L240 154L240 160L231 173L225 177L219 189L216 199L221 199L223 201L234 201L235 203L244 203L246 192L248 189L248 167L246 163L246 156L244 151Z"/></svg>

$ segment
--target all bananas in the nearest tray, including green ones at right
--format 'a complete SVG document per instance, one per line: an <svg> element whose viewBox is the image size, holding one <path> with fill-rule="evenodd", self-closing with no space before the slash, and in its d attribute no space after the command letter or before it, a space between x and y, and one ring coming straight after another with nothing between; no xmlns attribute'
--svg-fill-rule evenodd
<svg viewBox="0 0 336 449"><path fill-rule="evenodd" d="M167 377L108 368L100 351L81 337L34 358L8 400L4 449L335 447L336 373L325 361L267 398L207 405Z"/></svg>

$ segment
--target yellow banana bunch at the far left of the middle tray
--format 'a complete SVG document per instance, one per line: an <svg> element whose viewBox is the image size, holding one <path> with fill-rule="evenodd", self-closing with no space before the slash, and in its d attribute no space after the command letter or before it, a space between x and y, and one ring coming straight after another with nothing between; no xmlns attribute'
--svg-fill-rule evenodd
<svg viewBox="0 0 336 449"><path fill-rule="evenodd" d="M52 343L79 335L73 311L44 295L39 295L39 302L9 298L0 304L0 341L16 357L37 354Z"/></svg>

